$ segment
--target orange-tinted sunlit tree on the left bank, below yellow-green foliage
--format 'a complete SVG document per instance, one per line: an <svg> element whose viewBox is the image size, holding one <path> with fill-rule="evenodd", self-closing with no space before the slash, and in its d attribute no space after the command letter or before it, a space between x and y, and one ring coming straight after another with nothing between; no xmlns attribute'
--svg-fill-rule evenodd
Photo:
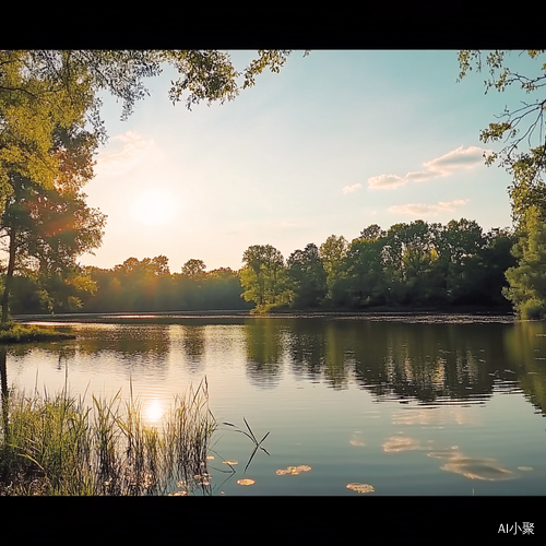
<svg viewBox="0 0 546 546"><path fill-rule="evenodd" d="M69 285L73 286L79 270L76 258L100 246L106 216L97 209L90 209L82 192L82 187L93 176L90 164L95 145L95 135L78 123L68 128L57 126L49 151L57 165L51 185L22 175L16 165L5 169L10 192L3 202L0 235L7 240L9 258L2 322L8 321L10 290L16 270L29 269L41 281L60 275L62 282L70 278ZM41 281L40 289L47 294ZM91 286L90 283L80 284ZM80 305L74 295L71 298Z"/></svg>

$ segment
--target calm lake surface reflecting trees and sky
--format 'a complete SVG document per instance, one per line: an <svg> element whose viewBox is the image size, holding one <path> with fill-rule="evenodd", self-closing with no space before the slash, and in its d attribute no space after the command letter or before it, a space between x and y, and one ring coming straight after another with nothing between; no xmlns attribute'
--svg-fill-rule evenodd
<svg viewBox="0 0 546 546"><path fill-rule="evenodd" d="M546 322L441 314L64 316L11 345L7 384L123 399L161 418L206 378L218 422L199 495L546 495ZM235 427L247 419L264 451ZM223 425L230 423L235 427ZM223 461L237 461L230 466ZM290 468L292 467L292 468ZM244 487L238 480L256 483ZM368 488L369 489L369 488ZM364 492L361 495L365 495Z"/></svg>

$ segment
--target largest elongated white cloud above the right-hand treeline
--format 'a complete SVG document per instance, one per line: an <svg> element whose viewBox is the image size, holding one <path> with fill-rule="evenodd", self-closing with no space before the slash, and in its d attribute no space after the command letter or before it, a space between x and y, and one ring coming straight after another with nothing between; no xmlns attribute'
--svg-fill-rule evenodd
<svg viewBox="0 0 546 546"><path fill-rule="evenodd" d="M425 162L424 170L410 171L405 176L379 175L368 179L368 188L380 190L392 190L407 182L424 182L431 178L451 175L456 170L472 169L484 165L484 155L489 155L490 150L477 146L468 146L466 150L459 146L447 154L429 162Z"/></svg>

